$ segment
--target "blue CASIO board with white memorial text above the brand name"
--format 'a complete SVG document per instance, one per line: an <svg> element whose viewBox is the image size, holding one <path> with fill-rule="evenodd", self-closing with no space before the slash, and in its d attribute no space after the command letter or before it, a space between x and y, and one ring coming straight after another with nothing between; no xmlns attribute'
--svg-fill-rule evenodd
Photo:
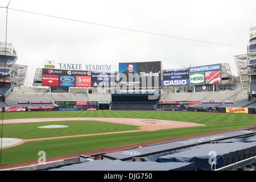
<svg viewBox="0 0 256 182"><path fill-rule="evenodd" d="M188 69L179 71L163 71L162 86L189 85Z"/></svg>

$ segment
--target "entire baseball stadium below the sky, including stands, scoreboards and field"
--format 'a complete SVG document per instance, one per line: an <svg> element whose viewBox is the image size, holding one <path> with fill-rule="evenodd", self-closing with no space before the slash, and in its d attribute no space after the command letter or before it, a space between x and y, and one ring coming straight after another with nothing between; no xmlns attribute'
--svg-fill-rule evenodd
<svg viewBox="0 0 256 182"><path fill-rule="evenodd" d="M108 72L47 60L30 87L0 43L1 170L255 170L255 32L234 56L238 76L226 63Z"/></svg>

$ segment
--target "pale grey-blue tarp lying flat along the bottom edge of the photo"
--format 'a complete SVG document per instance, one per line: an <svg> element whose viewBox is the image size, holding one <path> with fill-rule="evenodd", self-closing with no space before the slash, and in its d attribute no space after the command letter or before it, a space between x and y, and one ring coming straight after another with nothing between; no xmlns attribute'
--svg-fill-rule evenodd
<svg viewBox="0 0 256 182"><path fill-rule="evenodd" d="M123 162L93 160L61 166L48 171L196 171L193 163Z"/></svg>

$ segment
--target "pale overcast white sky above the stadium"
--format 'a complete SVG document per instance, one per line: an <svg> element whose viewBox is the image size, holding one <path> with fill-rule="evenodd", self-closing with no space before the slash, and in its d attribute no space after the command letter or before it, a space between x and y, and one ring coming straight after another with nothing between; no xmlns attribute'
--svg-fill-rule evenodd
<svg viewBox="0 0 256 182"><path fill-rule="evenodd" d="M10 0L0 0L6 7ZM9 8L108 26L8 10L7 42L28 65L26 86L44 60L55 63L108 64L162 61L163 69L228 63L237 75L235 55L246 53L249 28L256 26L255 0L225 1L57 1L11 0ZM0 42L5 42L6 9L0 8Z"/></svg>

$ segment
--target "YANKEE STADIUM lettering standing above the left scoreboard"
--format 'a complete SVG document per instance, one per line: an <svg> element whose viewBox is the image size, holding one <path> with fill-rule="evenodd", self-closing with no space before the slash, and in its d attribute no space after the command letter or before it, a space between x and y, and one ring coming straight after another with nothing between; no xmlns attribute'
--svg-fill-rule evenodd
<svg viewBox="0 0 256 182"><path fill-rule="evenodd" d="M59 63L59 69L76 69L86 71L110 71L111 65L107 64L72 64L72 63Z"/></svg>

